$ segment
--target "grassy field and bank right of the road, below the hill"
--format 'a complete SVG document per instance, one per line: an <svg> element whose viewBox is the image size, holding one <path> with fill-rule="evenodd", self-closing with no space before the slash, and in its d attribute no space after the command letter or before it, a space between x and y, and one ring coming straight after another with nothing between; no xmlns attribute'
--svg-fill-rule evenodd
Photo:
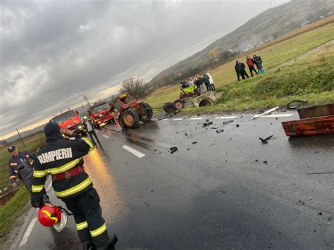
<svg viewBox="0 0 334 250"><path fill-rule="evenodd" d="M264 44L233 61L209 70L218 91L223 92L218 104L203 108L186 108L187 112L245 110L285 105L292 99L309 99L310 104L333 101L333 46L315 55L299 58L334 39L334 17L295 30ZM258 54L264 58L266 74L237 82L234 65L245 61L247 55ZM294 60L289 65L282 65ZM280 66L282 65L282 66ZM278 67L278 68L277 68ZM248 70L247 70L248 72ZM151 106L161 106L173 101L180 93L179 85L164 87L147 97Z"/></svg>

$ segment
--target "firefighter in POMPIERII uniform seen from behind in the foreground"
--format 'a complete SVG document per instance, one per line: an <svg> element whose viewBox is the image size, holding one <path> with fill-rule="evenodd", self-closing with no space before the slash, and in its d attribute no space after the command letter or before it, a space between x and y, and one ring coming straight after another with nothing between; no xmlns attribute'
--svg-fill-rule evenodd
<svg viewBox="0 0 334 250"><path fill-rule="evenodd" d="M52 187L73 213L78 236L83 249L113 249L116 235L108 235L101 214L99 194L85 172L85 156L94 149L91 140L70 130L63 130L56 123L44 127L47 144L37 151L34 176L32 178L31 204L42 207L41 191L47 175L51 174Z"/></svg>

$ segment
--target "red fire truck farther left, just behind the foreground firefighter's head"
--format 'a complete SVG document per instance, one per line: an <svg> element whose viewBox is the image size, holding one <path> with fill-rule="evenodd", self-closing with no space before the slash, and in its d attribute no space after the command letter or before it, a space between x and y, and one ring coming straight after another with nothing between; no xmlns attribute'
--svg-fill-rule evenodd
<svg viewBox="0 0 334 250"><path fill-rule="evenodd" d="M61 129L72 130L82 136L87 135L86 127L81 123L79 112L75 109L68 108L68 111L54 115L51 122L58 123Z"/></svg>

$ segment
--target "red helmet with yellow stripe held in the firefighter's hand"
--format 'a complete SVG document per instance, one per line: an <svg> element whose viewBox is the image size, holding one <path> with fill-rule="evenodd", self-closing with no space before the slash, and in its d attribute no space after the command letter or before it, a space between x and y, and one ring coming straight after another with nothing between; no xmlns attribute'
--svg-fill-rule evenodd
<svg viewBox="0 0 334 250"><path fill-rule="evenodd" d="M44 204L44 206L38 210L38 220L44 227L51 227L51 225L60 223L61 208L52 206L51 204Z"/></svg>

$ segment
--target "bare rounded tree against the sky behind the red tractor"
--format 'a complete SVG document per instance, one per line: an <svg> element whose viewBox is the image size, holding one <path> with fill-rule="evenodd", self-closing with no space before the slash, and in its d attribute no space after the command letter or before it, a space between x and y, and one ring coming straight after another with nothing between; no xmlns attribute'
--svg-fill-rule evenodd
<svg viewBox="0 0 334 250"><path fill-rule="evenodd" d="M135 77L130 76L122 80L120 92L126 92L136 99L140 99L147 95L147 89L142 78L135 79Z"/></svg>

